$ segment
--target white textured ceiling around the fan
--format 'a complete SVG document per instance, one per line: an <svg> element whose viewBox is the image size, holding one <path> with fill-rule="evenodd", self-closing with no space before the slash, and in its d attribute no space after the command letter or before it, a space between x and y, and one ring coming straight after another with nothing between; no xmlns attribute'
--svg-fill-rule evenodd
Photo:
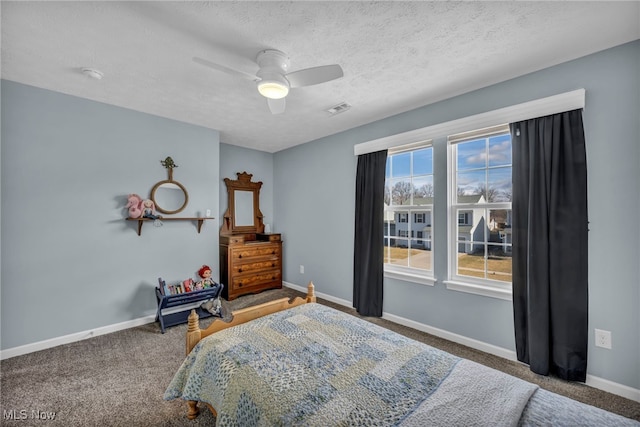
<svg viewBox="0 0 640 427"><path fill-rule="evenodd" d="M631 2L2 1L4 79L217 129L276 152L640 38ZM255 73L279 49L291 70L344 77L293 89L272 115ZM82 67L104 73L84 76ZM330 107L352 108L331 116Z"/></svg>

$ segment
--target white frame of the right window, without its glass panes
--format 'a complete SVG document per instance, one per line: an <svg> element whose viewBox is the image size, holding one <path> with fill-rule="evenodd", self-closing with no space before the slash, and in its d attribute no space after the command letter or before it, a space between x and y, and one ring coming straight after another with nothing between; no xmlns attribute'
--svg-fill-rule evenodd
<svg viewBox="0 0 640 427"><path fill-rule="evenodd" d="M457 186L457 144L465 141L471 141L478 138L484 138L491 135L500 135L504 132L508 132L508 125L498 125L491 128L479 129L469 132L468 135L450 137L447 141L447 191L448 191L448 263L449 263L449 277L445 280L447 289L468 292L478 295L484 295L499 299L511 300L512 298L512 283L503 282L498 280L484 279L480 277L463 276L457 274L458 264L458 227L460 225L470 225L468 221L465 224L460 224L460 209L466 209L475 211L484 209L485 218L488 221L489 210L506 209L511 210L511 202L485 202L485 203L459 203L458 202L458 186ZM468 212L465 213L468 215ZM465 220L468 217L465 215ZM472 213L473 215L473 213ZM475 221L475 220L474 220ZM466 238L465 238L466 240ZM486 243L486 240L485 240Z"/></svg>

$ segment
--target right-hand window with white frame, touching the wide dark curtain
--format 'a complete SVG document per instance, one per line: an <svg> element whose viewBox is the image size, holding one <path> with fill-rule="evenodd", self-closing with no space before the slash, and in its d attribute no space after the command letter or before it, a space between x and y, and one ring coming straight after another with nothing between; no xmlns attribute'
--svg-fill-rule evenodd
<svg viewBox="0 0 640 427"><path fill-rule="evenodd" d="M511 135L508 125L450 136L449 275L511 291Z"/></svg>

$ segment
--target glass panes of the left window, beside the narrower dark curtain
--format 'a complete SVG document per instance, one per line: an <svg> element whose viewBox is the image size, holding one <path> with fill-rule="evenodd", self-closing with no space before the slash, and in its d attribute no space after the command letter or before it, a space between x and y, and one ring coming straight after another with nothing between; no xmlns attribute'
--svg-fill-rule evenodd
<svg viewBox="0 0 640 427"><path fill-rule="evenodd" d="M407 151L390 151L385 178L385 274L433 277L432 212L430 143Z"/></svg>

